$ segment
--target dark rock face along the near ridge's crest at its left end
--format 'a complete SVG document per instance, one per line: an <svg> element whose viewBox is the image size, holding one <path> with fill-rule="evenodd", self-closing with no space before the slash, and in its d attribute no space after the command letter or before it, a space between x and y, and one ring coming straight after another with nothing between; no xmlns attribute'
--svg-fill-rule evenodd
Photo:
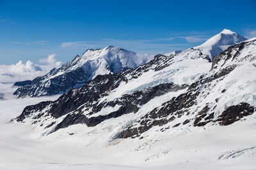
<svg viewBox="0 0 256 170"><path fill-rule="evenodd" d="M106 83L102 83L104 80L106 80ZM93 99L99 99L99 97L102 97L100 94L108 90L112 84L113 76L111 74L103 76L99 75L93 81L86 83L83 88L70 90L67 94L63 94L54 102L42 102L33 106L27 106L22 111L22 114L17 117L17 121L21 122L26 118L26 115L30 115L33 112L43 111L45 108L48 108L45 110L45 113L48 115L51 115L54 118L61 117L70 111L76 110L84 103L91 103ZM49 107L50 105L51 107Z"/></svg>

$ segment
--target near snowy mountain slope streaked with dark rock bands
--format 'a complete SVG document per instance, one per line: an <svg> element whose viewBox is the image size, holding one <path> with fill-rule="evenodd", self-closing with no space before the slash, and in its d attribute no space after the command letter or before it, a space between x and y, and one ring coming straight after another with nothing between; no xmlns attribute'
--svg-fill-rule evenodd
<svg viewBox="0 0 256 170"><path fill-rule="evenodd" d="M228 47L212 63L191 48L98 75L56 101L27 106L12 121L33 124L42 136L83 132L108 142L150 139L156 133L245 120L255 114L255 87L256 39L249 39Z"/></svg>

